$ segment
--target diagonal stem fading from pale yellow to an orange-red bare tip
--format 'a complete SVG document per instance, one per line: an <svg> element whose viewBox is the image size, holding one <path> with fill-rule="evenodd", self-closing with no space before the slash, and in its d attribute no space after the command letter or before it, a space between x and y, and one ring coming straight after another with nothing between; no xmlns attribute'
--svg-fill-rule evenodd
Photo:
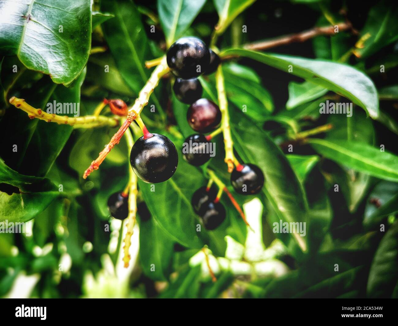
<svg viewBox="0 0 398 326"><path fill-rule="evenodd" d="M168 71L169 67L167 66L166 56L164 56L162 58L162 62L160 62L160 64L155 68L145 86L140 90L140 94L138 95L138 98L135 100L134 104L129 108L129 111L127 113L127 119L125 120L123 125L119 128L115 135L113 135L111 141L105 146L105 149L100 152L98 158L96 158L96 160L94 160L88 167L88 169L84 172L84 179L86 179L91 172L97 170L103 160L105 160L107 154L115 146L115 144L119 144L121 137L129 127L129 125L140 115L144 106L148 104L149 97L156 88L156 86L158 86L160 78L162 78L162 76Z"/></svg>

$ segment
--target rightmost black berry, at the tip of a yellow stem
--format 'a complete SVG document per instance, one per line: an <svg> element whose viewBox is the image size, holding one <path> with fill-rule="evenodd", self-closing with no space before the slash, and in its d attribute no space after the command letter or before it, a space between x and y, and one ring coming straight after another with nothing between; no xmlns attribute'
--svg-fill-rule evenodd
<svg viewBox="0 0 398 326"><path fill-rule="evenodd" d="M237 193L254 195L263 187L264 174L254 164L242 164L232 171L231 183Z"/></svg>

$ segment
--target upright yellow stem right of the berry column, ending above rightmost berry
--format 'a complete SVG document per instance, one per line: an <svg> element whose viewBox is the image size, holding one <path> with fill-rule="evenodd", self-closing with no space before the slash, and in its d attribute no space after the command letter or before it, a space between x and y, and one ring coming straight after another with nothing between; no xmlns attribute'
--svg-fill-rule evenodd
<svg viewBox="0 0 398 326"><path fill-rule="evenodd" d="M234 142L231 137L231 128L229 125L229 114L228 114L228 102L226 100L224 75L222 74L221 64L217 68L216 72L216 85L217 94L219 98L220 111L222 114L221 118L221 129L224 135L224 146L225 146L225 160L224 162L228 165L228 172L231 173L234 170L234 162L236 158L234 156Z"/></svg>

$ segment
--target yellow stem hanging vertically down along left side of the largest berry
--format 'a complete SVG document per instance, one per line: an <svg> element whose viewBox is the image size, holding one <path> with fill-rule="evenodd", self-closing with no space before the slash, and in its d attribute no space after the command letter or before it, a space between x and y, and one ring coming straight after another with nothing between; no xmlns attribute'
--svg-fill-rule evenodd
<svg viewBox="0 0 398 326"><path fill-rule="evenodd" d="M125 137L127 141L127 148L130 150L133 147L134 140L133 140L133 135L131 135L131 131L129 128L126 129L125 132ZM124 267L129 267L129 262L130 262L130 254L129 254L129 249L131 246L131 236L134 233L134 226L135 226L135 221L137 217L137 175L134 173L133 169L131 168L131 165L129 164L129 184L127 185L128 188L128 193L129 193L129 215L127 216L127 232L126 236L123 240L124 242L124 256L123 256L123 262L124 262ZM126 189L125 189L126 191ZM123 191L123 193L125 192Z"/></svg>

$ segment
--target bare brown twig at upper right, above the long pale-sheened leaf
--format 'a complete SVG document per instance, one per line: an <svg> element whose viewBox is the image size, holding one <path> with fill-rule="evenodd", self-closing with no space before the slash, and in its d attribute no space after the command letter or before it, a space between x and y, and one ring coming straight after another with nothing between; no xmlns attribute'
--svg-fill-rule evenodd
<svg viewBox="0 0 398 326"><path fill-rule="evenodd" d="M338 30L345 31L347 29L352 29L352 25L349 22L338 23ZM276 39L265 40L256 43L250 43L244 45L244 49L248 50L266 50L272 47L278 47L280 45L286 45L295 42L304 42L308 39L312 39L313 37L319 35L334 35L336 32L334 31L334 26L323 26L323 27L313 27L312 29L308 29L306 31L302 31L297 34L289 34L278 37Z"/></svg>

